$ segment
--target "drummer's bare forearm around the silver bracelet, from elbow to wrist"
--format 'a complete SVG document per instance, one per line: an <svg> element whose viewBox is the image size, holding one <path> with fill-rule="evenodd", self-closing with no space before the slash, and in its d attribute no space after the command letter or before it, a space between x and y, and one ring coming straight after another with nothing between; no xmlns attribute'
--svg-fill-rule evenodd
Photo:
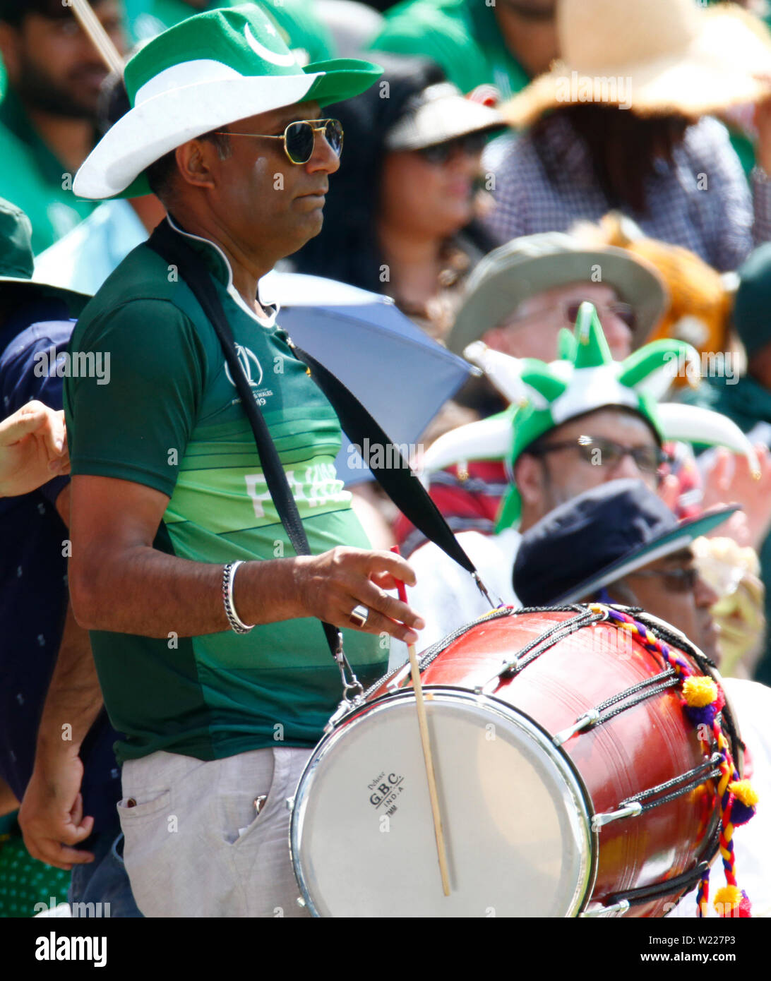
<svg viewBox="0 0 771 981"><path fill-rule="evenodd" d="M244 562L233 603L244 623L265 624L308 616L302 611L296 574L303 559ZM77 569L77 566L76 566ZM192 562L148 546L77 571L78 622L90 630L142 637L198 637L230 630L222 595L223 564ZM84 582L84 578L88 581ZM74 587L71 563L71 588Z"/></svg>

